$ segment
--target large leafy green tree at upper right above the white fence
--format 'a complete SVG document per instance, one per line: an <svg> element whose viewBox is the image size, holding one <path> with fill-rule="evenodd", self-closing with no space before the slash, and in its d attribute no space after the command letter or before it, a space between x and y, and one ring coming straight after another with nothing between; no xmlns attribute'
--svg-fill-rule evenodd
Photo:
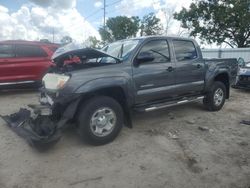
<svg viewBox="0 0 250 188"><path fill-rule="evenodd" d="M200 0L174 14L190 35L207 43L250 46L249 0Z"/></svg>

